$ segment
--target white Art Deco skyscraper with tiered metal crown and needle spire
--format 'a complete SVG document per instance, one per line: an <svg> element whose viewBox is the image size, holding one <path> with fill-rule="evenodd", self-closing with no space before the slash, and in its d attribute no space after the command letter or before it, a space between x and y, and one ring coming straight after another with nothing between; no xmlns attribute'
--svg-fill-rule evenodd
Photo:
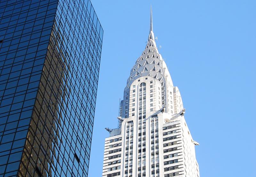
<svg viewBox="0 0 256 177"><path fill-rule="evenodd" d="M119 127L105 139L103 177L199 177L178 87L158 52L152 10L148 42L131 69Z"/></svg>

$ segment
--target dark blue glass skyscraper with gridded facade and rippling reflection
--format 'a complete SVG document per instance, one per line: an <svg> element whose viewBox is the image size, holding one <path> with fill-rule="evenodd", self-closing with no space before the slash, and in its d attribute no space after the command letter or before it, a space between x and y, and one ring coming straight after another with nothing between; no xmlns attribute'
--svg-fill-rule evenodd
<svg viewBox="0 0 256 177"><path fill-rule="evenodd" d="M103 30L90 0L0 3L0 176L87 176Z"/></svg>

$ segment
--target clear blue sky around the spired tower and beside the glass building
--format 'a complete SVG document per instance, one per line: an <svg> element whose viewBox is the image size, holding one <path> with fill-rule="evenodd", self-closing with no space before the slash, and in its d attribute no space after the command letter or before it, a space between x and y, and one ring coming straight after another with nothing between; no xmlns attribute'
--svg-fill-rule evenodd
<svg viewBox="0 0 256 177"><path fill-rule="evenodd" d="M104 30L89 177L102 175L105 127L154 34L186 108L201 177L256 176L256 1L92 0Z"/></svg>

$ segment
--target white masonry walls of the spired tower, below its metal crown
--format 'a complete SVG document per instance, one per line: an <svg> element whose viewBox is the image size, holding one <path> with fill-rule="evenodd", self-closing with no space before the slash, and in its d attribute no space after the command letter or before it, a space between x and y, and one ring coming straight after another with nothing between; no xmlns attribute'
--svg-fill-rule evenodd
<svg viewBox="0 0 256 177"><path fill-rule="evenodd" d="M175 110L182 110L177 87L173 93ZM184 116L161 111L160 82L150 76L134 81L129 103L129 117L106 138L102 176L199 177Z"/></svg>

